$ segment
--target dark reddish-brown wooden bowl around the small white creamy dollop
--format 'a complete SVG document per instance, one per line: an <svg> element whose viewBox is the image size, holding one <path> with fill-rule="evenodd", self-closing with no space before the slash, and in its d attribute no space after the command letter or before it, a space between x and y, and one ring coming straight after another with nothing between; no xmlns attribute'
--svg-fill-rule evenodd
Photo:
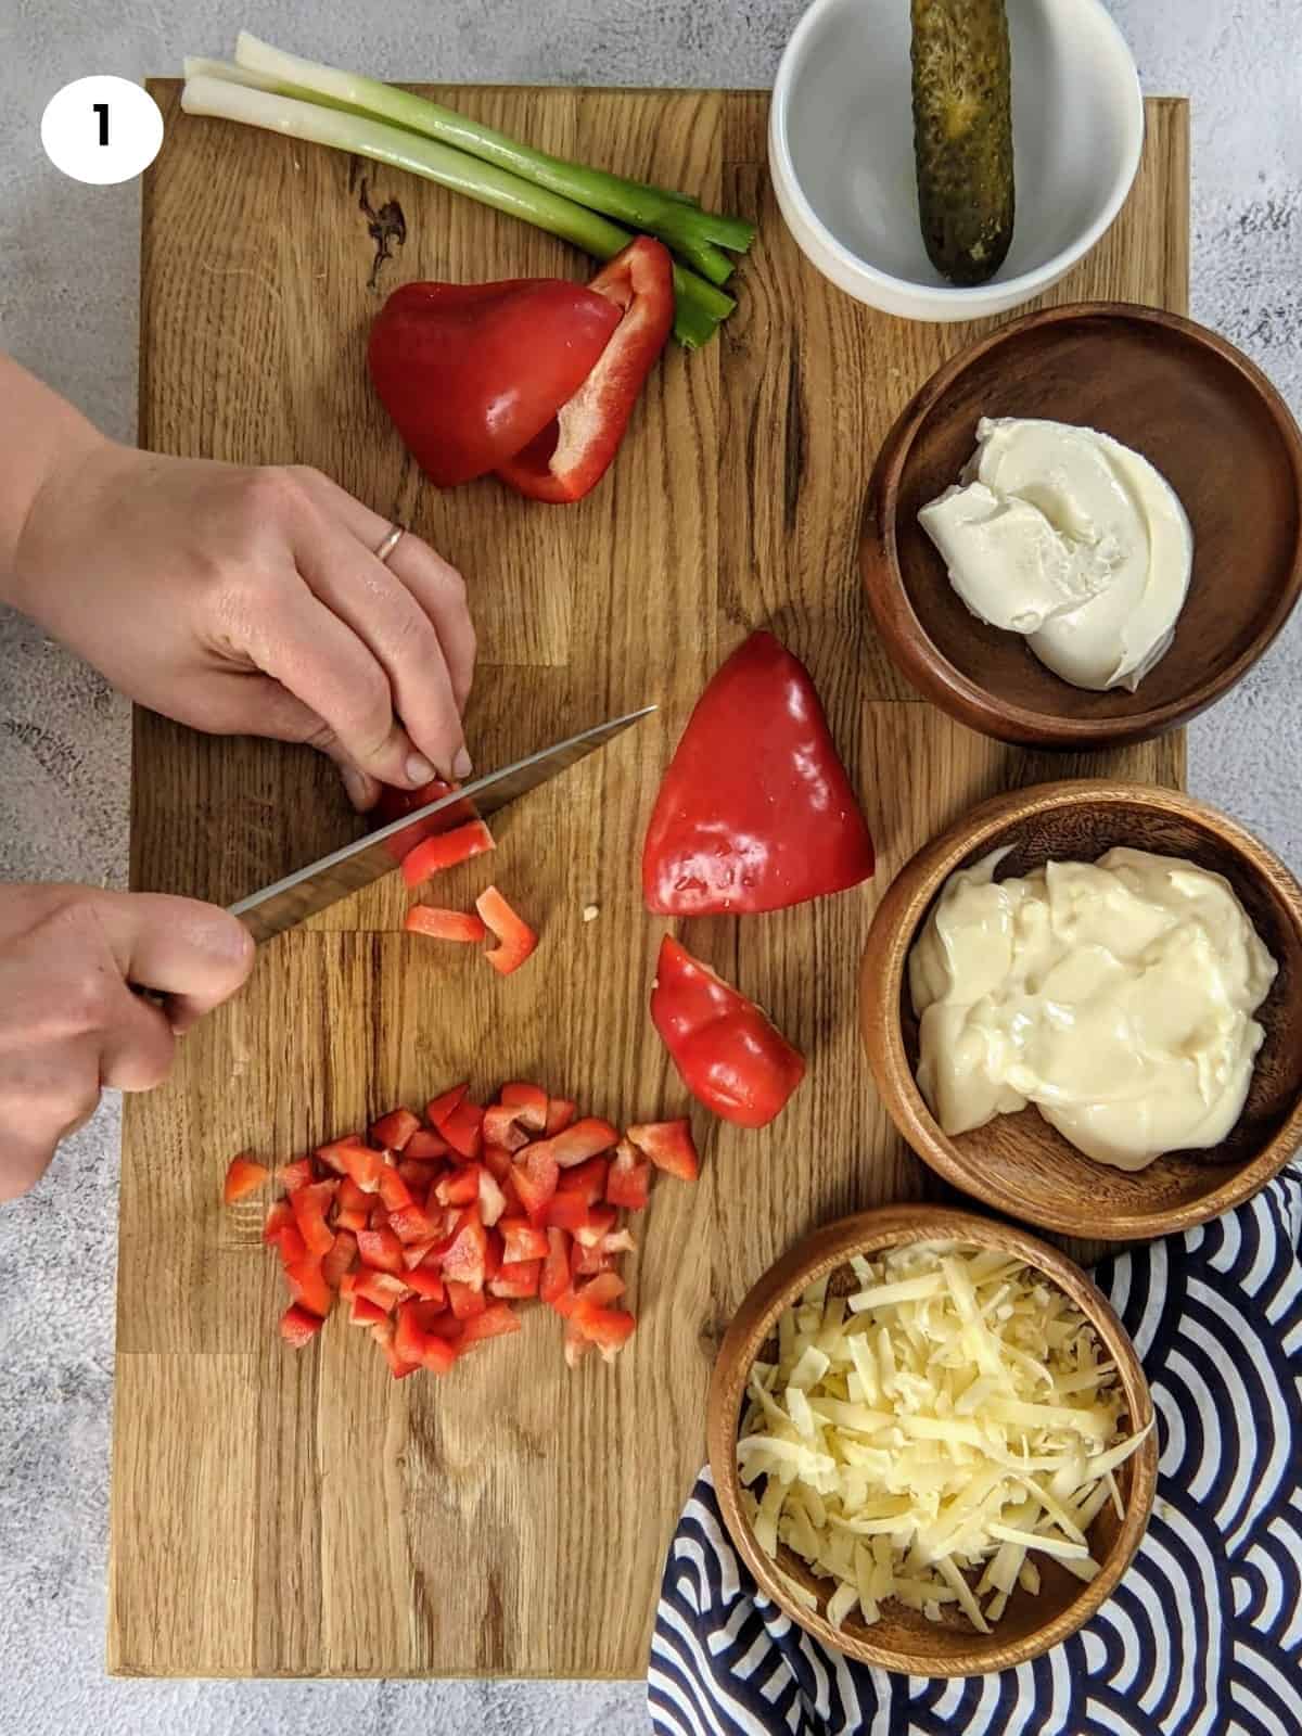
<svg viewBox="0 0 1302 1736"><path fill-rule="evenodd" d="M1175 641L1137 693L1088 693L960 602L918 509L958 481L981 417L1101 429L1149 458L1194 533ZM1000 326L946 363L885 437L859 552L889 654L962 724L1042 748L1158 736L1219 700L1302 587L1302 436L1271 382L1213 332L1153 307L1082 302Z"/></svg>

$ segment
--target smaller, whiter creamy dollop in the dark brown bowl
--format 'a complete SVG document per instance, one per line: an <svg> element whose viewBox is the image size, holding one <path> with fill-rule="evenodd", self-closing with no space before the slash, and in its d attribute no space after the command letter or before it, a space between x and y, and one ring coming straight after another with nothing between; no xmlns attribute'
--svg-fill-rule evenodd
<svg viewBox="0 0 1302 1736"><path fill-rule="evenodd" d="M962 484L918 523L972 615L1024 634L1076 687L1134 693L1175 635L1189 519L1147 458L1109 434L983 417Z"/></svg>

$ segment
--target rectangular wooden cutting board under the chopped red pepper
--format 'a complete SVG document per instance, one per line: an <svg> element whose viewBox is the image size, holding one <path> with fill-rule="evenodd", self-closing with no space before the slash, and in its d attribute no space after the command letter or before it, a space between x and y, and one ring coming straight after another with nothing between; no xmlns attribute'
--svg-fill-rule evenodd
<svg viewBox="0 0 1302 1736"><path fill-rule="evenodd" d="M705 1389L741 1295L797 1236L934 1191L859 1052L856 965L882 887L937 828L1062 773L1179 783L1180 738L1045 759L920 703L873 637L856 542L892 417L976 326L904 325L830 288L788 240L750 92L431 92L536 144L759 219L736 316L670 349L611 476L580 507L484 483L437 493L363 366L411 278L582 276L568 248L399 174L179 111L144 186L141 439L240 464L312 464L467 575L481 670L469 719L491 767L658 700L658 719L496 825L488 870L542 927L510 981L398 930L398 878L266 948L240 1000L186 1038L170 1085L127 1099L113 1441L109 1667L139 1675L642 1672L661 1557L705 1458ZM1184 311L1187 111L1147 104L1132 200L1054 300ZM396 201L406 240L377 267ZM387 227L396 212L389 210ZM378 224L385 227L385 224ZM809 665L877 837L873 885L687 943L809 1055L766 1132L694 1113L696 1187L661 1180L632 1264L620 1363L568 1373L559 1321L453 1377L391 1382L332 1321L285 1349L259 1212L219 1203L231 1153L288 1158L470 1078L540 1078L615 1121L686 1113L648 1014L663 924L639 899L642 826L703 682L755 627ZM354 830L306 750L135 717L132 884L222 903ZM585 924L585 904L599 917Z"/></svg>

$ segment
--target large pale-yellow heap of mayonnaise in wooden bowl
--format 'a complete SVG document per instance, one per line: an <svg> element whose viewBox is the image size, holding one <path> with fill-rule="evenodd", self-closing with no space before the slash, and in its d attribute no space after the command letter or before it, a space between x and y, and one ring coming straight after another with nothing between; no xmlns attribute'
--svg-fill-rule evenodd
<svg viewBox="0 0 1302 1736"><path fill-rule="evenodd" d="M950 875L910 955L918 1087L944 1132L1033 1102L1121 1170L1220 1144L1278 969L1229 882L1128 849L996 882L1003 856Z"/></svg>

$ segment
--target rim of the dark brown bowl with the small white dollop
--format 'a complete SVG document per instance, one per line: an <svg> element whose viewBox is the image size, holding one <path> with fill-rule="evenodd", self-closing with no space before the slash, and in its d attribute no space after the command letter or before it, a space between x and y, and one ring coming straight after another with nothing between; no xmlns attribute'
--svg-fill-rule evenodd
<svg viewBox="0 0 1302 1736"><path fill-rule="evenodd" d="M1043 307L1036 312L1023 314L1019 319L1010 319L943 363L910 403L904 404L882 443L877 464L873 465L859 536L859 573L868 594L868 608L871 609L878 634L903 674L944 712L981 734L995 736L1002 741L1049 748L1085 748L1121 741L1144 741L1189 722L1191 717L1215 705L1217 700L1246 675L1274 642L1302 594L1300 535L1293 549L1288 582L1279 589L1272 608L1264 615L1252 644L1219 674L1194 682L1182 698L1167 700L1161 705L1128 712L1121 717L1068 717L1057 712L1031 710L1012 700L1000 700L988 687L983 687L960 668L955 668L936 646L913 609L908 589L904 587L896 538L901 479L918 429L955 380L974 363L984 359L993 349L1016 342L1026 332L1040 326L1069 325L1083 319L1123 319L1139 326L1147 325L1158 326L1163 332L1175 332L1240 373L1255 391L1279 432L1293 476L1299 519L1302 521L1302 431L1299 431L1293 413L1271 380L1248 356L1220 337L1220 333L1198 325L1194 319L1167 312L1161 307L1146 307L1141 302L1069 302L1062 307ZM955 608L962 608L957 597Z"/></svg>

